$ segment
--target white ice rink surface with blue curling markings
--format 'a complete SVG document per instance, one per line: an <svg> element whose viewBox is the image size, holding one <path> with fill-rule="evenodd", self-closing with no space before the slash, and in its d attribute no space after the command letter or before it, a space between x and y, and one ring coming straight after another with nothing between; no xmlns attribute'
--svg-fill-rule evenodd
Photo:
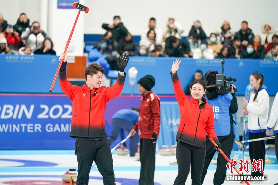
<svg viewBox="0 0 278 185"><path fill-rule="evenodd" d="M135 157L113 154L113 166L116 184L136 185L140 175L140 161ZM178 174L177 165L169 165L175 160L174 155L156 155L155 185L171 185ZM239 166L237 166L239 167ZM53 184L67 185L62 182L62 175L70 168L77 170L76 155L73 150L44 150L44 151L0 151L0 184L36 185ZM250 166L251 169L251 166ZM204 185L213 184L216 165L210 165ZM234 170L233 170L234 171ZM250 173L250 172L249 172ZM230 173L230 169L227 170ZM234 171L234 174L236 172ZM278 182L278 165L265 165L265 175L268 181L250 182L250 184L275 184ZM90 185L102 185L102 177L97 167L91 169ZM190 174L185 184L191 184ZM239 184L227 182L224 184Z"/></svg>

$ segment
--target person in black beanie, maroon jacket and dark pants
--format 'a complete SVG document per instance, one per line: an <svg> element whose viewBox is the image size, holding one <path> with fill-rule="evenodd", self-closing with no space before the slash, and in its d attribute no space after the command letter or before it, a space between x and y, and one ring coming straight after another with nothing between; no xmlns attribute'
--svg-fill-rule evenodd
<svg viewBox="0 0 278 185"><path fill-rule="evenodd" d="M153 185L155 175L155 147L160 129L160 99L152 92L155 78L146 75L138 81L142 94L139 118L129 134L140 136L140 178L139 185Z"/></svg>

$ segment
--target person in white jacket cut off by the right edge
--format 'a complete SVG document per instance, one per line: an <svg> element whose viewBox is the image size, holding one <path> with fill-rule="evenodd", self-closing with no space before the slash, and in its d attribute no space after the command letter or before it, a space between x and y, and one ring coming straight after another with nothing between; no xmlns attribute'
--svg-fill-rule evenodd
<svg viewBox="0 0 278 185"><path fill-rule="evenodd" d="M275 95L269 120L267 122L267 130L266 132L270 135L271 128L274 127L274 135L275 135L275 154L278 161L278 92ZM277 183L278 184L278 183Z"/></svg>

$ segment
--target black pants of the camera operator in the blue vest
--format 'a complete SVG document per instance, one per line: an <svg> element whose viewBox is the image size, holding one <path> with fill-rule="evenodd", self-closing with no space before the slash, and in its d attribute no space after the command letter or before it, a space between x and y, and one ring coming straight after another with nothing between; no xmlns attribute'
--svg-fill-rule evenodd
<svg viewBox="0 0 278 185"><path fill-rule="evenodd" d="M218 140L221 144L221 149L224 152L225 155L227 155L228 158L230 158L232 149L233 149L233 140L235 138L235 135L233 132L230 132L229 135L225 136L217 136ZM202 184L204 182L204 178L207 174L207 168L210 165L210 162L215 154L216 150L214 149L213 144L209 140L208 136L206 138L206 158L204 163L204 169L202 174ZM218 154L217 158L217 166L216 166L216 172L214 173L213 177L213 184L214 185L220 185L224 183L225 177L226 177L226 171L227 171L227 160L223 157L223 155Z"/></svg>

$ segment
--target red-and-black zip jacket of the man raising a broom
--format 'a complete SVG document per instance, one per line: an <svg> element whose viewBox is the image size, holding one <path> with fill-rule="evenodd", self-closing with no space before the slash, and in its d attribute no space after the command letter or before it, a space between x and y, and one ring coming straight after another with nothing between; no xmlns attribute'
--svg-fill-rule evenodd
<svg viewBox="0 0 278 185"><path fill-rule="evenodd" d="M104 111L109 100L115 98L123 90L126 75L118 74L112 87L101 86L90 89L85 84L82 87L71 85L66 76L66 70L59 73L62 91L72 102L72 120L70 136L98 138L107 137L105 131Z"/></svg>

